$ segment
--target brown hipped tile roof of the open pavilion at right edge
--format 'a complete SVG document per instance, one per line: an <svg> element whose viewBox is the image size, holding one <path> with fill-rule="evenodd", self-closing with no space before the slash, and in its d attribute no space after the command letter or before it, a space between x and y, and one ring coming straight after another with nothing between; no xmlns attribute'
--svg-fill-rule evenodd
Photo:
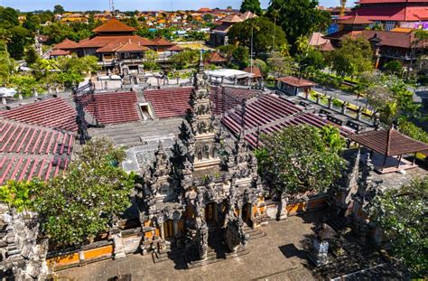
<svg viewBox="0 0 428 281"><path fill-rule="evenodd" d="M406 155L428 149L428 145L405 136L394 129L368 131L349 138L360 145L386 156Z"/></svg>

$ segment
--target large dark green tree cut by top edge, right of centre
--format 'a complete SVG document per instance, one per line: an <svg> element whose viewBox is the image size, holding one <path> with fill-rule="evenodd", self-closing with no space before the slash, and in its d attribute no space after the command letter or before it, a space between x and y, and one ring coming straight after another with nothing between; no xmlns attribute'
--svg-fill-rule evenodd
<svg viewBox="0 0 428 281"><path fill-rule="evenodd" d="M293 52L299 36L324 30L331 23L330 14L318 9L316 0L272 0L266 15L283 28L287 41L293 43Z"/></svg>

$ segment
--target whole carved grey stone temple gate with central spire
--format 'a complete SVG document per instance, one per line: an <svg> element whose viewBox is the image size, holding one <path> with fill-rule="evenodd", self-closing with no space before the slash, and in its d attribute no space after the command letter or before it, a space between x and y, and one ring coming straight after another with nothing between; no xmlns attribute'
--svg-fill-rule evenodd
<svg viewBox="0 0 428 281"><path fill-rule="evenodd" d="M200 64L172 156L160 142L150 172L138 184L143 253L185 247L203 260L214 236L235 252L247 243L246 224L256 228L268 220L259 211L264 191L256 157L243 137L226 137L211 115L207 80Z"/></svg>

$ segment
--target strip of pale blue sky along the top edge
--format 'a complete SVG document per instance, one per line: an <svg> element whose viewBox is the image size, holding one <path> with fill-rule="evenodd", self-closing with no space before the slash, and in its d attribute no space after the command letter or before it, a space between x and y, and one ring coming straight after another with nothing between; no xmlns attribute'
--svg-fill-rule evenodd
<svg viewBox="0 0 428 281"><path fill-rule="evenodd" d="M242 0L115 0L116 9L126 10L178 10L199 9L200 7L226 8L231 5L235 8L241 5ZM260 1L266 7L269 0ZM349 1L349 5L351 5ZM62 5L66 10L107 10L108 0L0 0L0 5L11 6L21 11L53 9L54 5ZM340 0L320 0L324 6L340 5Z"/></svg>

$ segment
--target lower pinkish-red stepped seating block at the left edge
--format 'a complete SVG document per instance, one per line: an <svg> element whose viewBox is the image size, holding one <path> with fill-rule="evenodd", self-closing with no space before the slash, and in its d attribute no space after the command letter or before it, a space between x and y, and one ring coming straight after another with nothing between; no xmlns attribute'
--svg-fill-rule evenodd
<svg viewBox="0 0 428 281"><path fill-rule="evenodd" d="M0 119L0 185L58 175L70 163L73 145L70 132Z"/></svg>

